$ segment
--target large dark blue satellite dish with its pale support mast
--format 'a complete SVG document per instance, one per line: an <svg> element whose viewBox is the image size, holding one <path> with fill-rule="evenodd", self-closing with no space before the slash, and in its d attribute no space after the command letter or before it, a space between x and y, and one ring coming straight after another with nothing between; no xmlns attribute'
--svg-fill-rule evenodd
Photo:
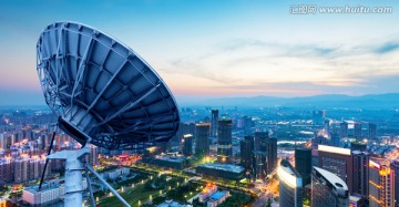
<svg viewBox="0 0 399 207"><path fill-rule="evenodd" d="M84 146L48 156L66 159L66 207L82 205L82 157L90 153L89 143L131 149L167 142L178 130L176 102L160 75L132 49L96 29L74 22L48 25L37 44L37 70L58 126ZM90 165L84 168L102 179Z"/></svg>

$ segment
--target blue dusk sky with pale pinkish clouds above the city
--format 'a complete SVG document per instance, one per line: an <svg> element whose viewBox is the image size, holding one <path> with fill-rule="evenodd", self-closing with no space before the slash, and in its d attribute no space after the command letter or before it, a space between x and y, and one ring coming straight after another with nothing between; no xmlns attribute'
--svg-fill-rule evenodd
<svg viewBox="0 0 399 207"><path fill-rule="evenodd" d="M291 14L298 4L392 12ZM399 92L398 0L10 0L0 4L0 105L44 104L35 44L55 21L125 43L177 101Z"/></svg>

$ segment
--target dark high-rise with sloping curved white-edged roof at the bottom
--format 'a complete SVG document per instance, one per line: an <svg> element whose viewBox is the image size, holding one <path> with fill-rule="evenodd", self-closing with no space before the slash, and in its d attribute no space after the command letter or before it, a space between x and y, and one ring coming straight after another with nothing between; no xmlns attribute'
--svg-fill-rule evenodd
<svg viewBox="0 0 399 207"><path fill-rule="evenodd" d="M311 206L348 207L348 186L337 175L314 167L311 172Z"/></svg>

